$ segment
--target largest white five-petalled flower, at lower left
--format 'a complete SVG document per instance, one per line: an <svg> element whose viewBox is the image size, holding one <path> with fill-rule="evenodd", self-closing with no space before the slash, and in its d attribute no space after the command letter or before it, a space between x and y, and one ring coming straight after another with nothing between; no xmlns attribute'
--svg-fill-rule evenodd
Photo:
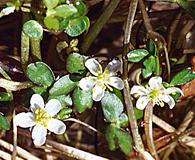
<svg viewBox="0 0 195 160"><path fill-rule="evenodd" d="M39 94L33 94L30 100L32 112L22 112L15 116L14 123L22 128L32 128L32 139L35 145L45 143L47 129L55 134L63 134L66 130L65 124L53 118L60 110L61 104L56 99L51 99L46 105Z"/></svg>

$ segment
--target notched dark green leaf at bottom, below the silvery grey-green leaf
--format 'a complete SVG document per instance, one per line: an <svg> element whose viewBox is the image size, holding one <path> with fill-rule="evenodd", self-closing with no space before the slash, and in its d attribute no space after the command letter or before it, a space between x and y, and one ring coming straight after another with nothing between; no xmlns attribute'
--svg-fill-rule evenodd
<svg viewBox="0 0 195 160"><path fill-rule="evenodd" d="M132 150L132 141L129 133L117 128L115 125L107 126L105 136L110 150L115 150L117 146L124 153L129 153Z"/></svg>

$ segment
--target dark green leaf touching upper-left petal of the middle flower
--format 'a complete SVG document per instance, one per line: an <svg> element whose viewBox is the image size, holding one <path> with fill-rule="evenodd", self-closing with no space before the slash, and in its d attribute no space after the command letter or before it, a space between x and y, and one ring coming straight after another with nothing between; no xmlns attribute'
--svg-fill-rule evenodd
<svg viewBox="0 0 195 160"><path fill-rule="evenodd" d="M85 71L85 56L79 53L69 54L66 61L66 69L69 73L82 74Z"/></svg>

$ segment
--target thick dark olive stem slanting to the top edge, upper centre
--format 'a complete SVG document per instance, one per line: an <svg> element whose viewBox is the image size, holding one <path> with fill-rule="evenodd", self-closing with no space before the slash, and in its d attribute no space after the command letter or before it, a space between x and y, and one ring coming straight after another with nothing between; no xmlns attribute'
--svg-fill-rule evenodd
<svg viewBox="0 0 195 160"><path fill-rule="evenodd" d="M80 51L82 53L86 53L88 51L89 47L91 46L95 38L98 36L103 26L106 24L106 22L118 6L119 2L120 0L111 0L108 6L104 9L103 13L97 19L91 30L88 32L86 37L84 37L80 48Z"/></svg>

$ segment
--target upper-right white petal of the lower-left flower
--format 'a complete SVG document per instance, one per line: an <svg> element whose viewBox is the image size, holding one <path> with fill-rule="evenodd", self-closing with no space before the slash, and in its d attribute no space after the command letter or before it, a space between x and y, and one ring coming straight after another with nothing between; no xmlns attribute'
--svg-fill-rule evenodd
<svg viewBox="0 0 195 160"><path fill-rule="evenodd" d="M45 110L50 116L56 115L61 110L61 103L57 99L51 99L45 105Z"/></svg>

